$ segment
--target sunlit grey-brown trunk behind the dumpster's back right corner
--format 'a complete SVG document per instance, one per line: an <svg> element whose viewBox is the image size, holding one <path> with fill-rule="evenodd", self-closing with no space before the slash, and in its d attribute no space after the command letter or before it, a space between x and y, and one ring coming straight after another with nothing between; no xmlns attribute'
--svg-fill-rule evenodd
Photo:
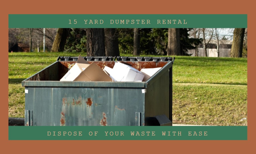
<svg viewBox="0 0 256 154"><path fill-rule="evenodd" d="M178 28L168 29L167 56L169 55L181 55L180 29Z"/></svg>

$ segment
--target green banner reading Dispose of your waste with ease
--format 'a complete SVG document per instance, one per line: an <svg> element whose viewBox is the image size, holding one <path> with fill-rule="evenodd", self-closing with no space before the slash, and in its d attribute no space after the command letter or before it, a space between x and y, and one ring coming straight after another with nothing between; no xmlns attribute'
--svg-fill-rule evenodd
<svg viewBox="0 0 256 154"><path fill-rule="evenodd" d="M247 126L9 126L9 140L247 140Z"/></svg>

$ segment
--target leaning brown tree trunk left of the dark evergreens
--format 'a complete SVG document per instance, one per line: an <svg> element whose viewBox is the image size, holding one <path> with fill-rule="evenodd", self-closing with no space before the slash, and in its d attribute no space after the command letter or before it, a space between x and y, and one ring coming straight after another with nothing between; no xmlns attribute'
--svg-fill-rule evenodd
<svg viewBox="0 0 256 154"><path fill-rule="evenodd" d="M51 49L51 52L62 52L64 51L64 47L66 44L66 40L69 35L69 30L66 28L59 28L57 31L57 34L55 36L53 47Z"/></svg>

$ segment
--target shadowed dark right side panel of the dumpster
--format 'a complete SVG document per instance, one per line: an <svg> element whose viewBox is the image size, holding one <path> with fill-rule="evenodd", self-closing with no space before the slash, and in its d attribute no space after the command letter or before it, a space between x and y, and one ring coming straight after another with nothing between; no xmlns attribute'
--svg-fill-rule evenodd
<svg viewBox="0 0 256 154"><path fill-rule="evenodd" d="M146 89L145 93L145 118L170 114L170 89L169 71L165 71L158 76ZM147 125L147 124L145 124Z"/></svg>

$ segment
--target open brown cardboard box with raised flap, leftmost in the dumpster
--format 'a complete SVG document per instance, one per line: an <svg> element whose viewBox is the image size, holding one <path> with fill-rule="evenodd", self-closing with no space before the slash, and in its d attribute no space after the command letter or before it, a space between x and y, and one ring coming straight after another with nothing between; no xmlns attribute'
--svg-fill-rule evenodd
<svg viewBox="0 0 256 154"><path fill-rule="evenodd" d="M81 56L76 64L60 79L60 81L113 81L95 63L89 64Z"/></svg>

